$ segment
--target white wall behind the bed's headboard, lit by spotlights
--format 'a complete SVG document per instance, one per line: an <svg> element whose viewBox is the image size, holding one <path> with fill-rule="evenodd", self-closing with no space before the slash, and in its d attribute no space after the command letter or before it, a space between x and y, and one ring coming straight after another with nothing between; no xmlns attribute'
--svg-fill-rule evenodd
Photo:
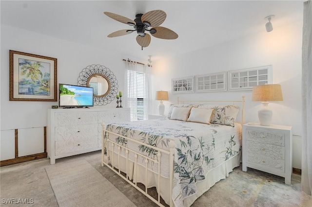
<svg viewBox="0 0 312 207"><path fill-rule="evenodd" d="M301 136L301 46L302 22L274 28L270 33L265 32L264 28L263 33L153 63L153 91L169 91L169 102L164 102L165 113L170 103L176 103L177 97L188 100L226 100L240 99L241 95L245 95L246 122L258 122L257 111L261 103L251 101L251 90L172 94L171 79L272 65L273 84L282 86L284 98L284 101L269 104L273 109L272 123L293 126L293 135ZM157 105L158 102L154 101L155 114ZM293 154L299 157L301 149L295 150ZM295 163L301 164L301 160L294 159Z"/></svg>

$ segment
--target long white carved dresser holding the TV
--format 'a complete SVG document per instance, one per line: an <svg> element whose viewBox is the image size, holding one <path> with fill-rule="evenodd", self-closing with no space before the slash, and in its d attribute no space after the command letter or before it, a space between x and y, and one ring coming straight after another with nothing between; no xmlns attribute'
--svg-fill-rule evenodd
<svg viewBox="0 0 312 207"><path fill-rule="evenodd" d="M101 150L101 123L130 121L130 108L49 109L47 153L50 164L61 157Z"/></svg>

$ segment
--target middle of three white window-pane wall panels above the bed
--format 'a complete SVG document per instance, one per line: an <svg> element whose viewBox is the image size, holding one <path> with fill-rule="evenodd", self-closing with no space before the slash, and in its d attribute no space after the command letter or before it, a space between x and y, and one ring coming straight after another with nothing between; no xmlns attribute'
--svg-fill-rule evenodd
<svg viewBox="0 0 312 207"><path fill-rule="evenodd" d="M196 92L226 90L226 72L197 75L195 80Z"/></svg>

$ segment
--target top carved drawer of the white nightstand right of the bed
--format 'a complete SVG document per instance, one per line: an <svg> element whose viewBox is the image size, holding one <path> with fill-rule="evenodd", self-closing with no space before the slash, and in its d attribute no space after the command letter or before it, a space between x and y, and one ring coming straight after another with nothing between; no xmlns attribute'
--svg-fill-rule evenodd
<svg viewBox="0 0 312 207"><path fill-rule="evenodd" d="M285 146L285 133L246 129L246 139L273 145Z"/></svg>

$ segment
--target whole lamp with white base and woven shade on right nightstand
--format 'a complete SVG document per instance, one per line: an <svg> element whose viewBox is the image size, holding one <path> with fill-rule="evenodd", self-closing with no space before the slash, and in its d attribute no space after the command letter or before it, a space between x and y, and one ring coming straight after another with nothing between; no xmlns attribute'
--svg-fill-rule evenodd
<svg viewBox="0 0 312 207"><path fill-rule="evenodd" d="M260 125L270 126L273 112L268 101L283 101L282 88L278 84L265 84L253 87L254 102L262 102L263 108L258 111Z"/></svg>

